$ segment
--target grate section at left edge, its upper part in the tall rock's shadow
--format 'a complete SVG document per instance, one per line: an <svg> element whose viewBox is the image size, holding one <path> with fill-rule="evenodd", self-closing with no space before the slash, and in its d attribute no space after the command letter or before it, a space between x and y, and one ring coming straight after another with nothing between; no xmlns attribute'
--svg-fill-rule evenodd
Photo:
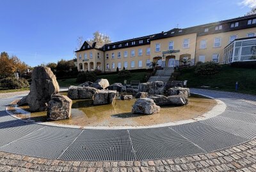
<svg viewBox="0 0 256 172"><path fill-rule="evenodd" d="M37 125L32 123L19 122L4 125L0 127L0 147L11 143L12 141L18 140L22 136L26 136L38 129L44 127L43 125Z"/></svg>

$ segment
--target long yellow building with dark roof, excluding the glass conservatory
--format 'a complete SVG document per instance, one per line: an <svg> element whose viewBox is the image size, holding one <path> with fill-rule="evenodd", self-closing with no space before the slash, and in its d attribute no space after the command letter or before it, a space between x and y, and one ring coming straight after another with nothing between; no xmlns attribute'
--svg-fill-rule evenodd
<svg viewBox="0 0 256 172"><path fill-rule="evenodd" d="M182 59L196 62L224 62L224 48L236 39L256 38L256 15L232 18L185 29L175 28L140 38L97 47L85 41L76 51L79 71L103 72L119 69L147 69L151 62L163 68L180 66Z"/></svg>

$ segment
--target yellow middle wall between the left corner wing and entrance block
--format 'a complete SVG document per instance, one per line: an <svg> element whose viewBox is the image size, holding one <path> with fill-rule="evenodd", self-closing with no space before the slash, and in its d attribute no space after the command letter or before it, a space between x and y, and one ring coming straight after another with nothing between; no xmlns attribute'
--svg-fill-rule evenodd
<svg viewBox="0 0 256 172"><path fill-rule="evenodd" d="M146 55L147 48L150 48L150 45L141 45L138 47L130 48L120 48L118 50L109 50L104 52L105 54L105 69L106 71L116 71L118 67L118 62L121 62L121 69L124 68L124 62L127 62L128 68L125 69L145 69L148 68L146 65L147 59L150 59L150 55ZM142 49L142 55L138 55L139 49ZM134 57L131 57L131 50L134 50ZM124 52L127 51L127 57L124 57ZM121 52L121 57L118 58L118 52ZM112 59L112 53L115 54L115 58ZM106 55L108 54L108 59ZM134 61L134 68L131 68L131 61ZM142 67L138 67L138 61L142 61ZM112 63L115 63L115 68L112 68ZM109 69L107 69L107 64L109 64Z"/></svg>

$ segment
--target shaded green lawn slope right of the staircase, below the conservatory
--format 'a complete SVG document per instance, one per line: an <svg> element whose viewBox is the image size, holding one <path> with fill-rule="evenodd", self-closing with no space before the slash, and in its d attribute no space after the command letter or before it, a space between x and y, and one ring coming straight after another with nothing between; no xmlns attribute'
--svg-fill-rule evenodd
<svg viewBox="0 0 256 172"><path fill-rule="evenodd" d="M236 91L236 82L239 83L238 92L256 94L256 69L231 68L222 66L220 73L212 76L196 76L194 69L184 69L178 80L188 80L188 87L210 86L209 89ZM200 87L202 88L202 87Z"/></svg>

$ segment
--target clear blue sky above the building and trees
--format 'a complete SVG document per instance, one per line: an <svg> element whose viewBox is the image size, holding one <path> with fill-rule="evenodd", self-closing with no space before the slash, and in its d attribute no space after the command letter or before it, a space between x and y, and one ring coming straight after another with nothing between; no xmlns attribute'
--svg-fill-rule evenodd
<svg viewBox="0 0 256 172"><path fill-rule="evenodd" d="M243 1L243 4L241 2ZM246 4L247 3L247 4ZM256 0L0 0L0 52L30 66L72 59L77 37L112 41L241 17Z"/></svg>

